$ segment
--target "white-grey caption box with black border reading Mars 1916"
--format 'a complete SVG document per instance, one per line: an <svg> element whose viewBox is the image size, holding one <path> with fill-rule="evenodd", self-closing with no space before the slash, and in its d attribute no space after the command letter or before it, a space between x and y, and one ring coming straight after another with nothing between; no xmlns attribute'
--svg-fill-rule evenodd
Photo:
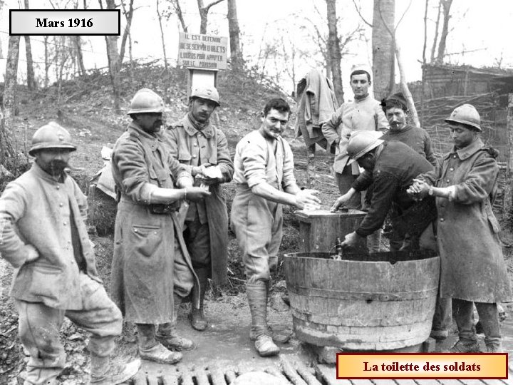
<svg viewBox="0 0 513 385"><path fill-rule="evenodd" d="M119 9L9 9L10 35L120 35Z"/></svg>

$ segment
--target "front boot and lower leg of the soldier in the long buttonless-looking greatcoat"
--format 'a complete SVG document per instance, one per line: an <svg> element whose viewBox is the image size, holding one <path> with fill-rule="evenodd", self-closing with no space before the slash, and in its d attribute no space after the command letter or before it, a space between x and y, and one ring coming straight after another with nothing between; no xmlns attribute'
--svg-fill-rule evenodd
<svg viewBox="0 0 513 385"><path fill-rule="evenodd" d="M170 351L155 339L155 325L135 324L138 328L139 356L160 364L176 364L182 360L182 353Z"/></svg>

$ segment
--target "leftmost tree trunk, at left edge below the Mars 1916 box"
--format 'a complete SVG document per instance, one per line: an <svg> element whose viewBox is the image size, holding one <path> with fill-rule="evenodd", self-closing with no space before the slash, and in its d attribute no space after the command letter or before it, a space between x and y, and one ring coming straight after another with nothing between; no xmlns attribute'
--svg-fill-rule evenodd
<svg viewBox="0 0 513 385"><path fill-rule="evenodd" d="M13 126L14 110L16 108L16 81L18 78L20 36L9 36L7 50L6 74L4 78L4 98L2 109L4 116L0 127L0 165L6 165L6 157L14 156L11 145L11 128Z"/></svg>

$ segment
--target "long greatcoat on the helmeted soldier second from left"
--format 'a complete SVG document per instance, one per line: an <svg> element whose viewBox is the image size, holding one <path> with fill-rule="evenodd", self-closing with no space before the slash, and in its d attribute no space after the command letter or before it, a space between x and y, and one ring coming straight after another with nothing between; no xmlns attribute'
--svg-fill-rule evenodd
<svg viewBox="0 0 513 385"><path fill-rule="evenodd" d="M111 296L127 321L172 322L175 280L182 278L175 277L175 250L182 251L191 275L195 274L177 212L156 214L144 186L151 183L173 188L173 181L183 170L171 158L160 134L145 133L135 123L130 123L115 143L112 164L120 202L115 221ZM190 287L194 284L187 283Z"/></svg>

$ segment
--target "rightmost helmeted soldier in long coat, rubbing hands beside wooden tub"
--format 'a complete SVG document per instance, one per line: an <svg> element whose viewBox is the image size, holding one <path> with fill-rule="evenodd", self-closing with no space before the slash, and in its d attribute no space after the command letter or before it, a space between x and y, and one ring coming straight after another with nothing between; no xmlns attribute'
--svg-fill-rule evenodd
<svg viewBox="0 0 513 385"><path fill-rule="evenodd" d="M452 298L459 335L450 351L481 351L473 324L474 303L484 329L486 351L501 352L497 302L511 302L512 290L499 241L499 223L492 212L499 173L497 151L482 143L481 119L474 106L455 108L445 121L454 148L435 170L419 175L408 193L436 197L436 242L442 260L440 296Z"/></svg>

